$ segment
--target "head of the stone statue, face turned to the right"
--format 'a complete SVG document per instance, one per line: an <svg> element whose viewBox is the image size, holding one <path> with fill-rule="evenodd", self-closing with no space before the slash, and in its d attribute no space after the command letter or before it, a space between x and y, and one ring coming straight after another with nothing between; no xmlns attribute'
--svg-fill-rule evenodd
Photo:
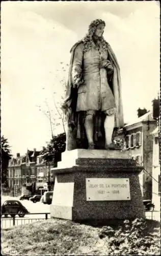
<svg viewBox="0 0 161 256"><path fill-rule="evenodd" d="M105 22L102 19L95 19L93 22L91 22L89 29L88 29L88 34L90 36L97 36L101 37L104 32L104 27L105 27Z"/></svg>

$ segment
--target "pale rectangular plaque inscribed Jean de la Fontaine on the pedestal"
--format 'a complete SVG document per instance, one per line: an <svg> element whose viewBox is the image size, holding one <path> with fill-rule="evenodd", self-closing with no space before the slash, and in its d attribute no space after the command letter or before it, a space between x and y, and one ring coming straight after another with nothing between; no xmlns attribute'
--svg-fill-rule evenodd
<svg viewBox="0 0 161 256"><path fill-rule="evenodd" d="M129 178L87 178L87 201L130 200Z"/></svg>

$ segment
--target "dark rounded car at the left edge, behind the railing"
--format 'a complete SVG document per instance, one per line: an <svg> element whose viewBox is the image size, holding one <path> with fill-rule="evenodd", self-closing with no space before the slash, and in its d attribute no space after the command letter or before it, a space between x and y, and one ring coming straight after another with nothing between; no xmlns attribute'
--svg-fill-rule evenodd
<svg viewBox="0 0 161 256"><path fill-rule="evenodd" d="M23 218L25 214L29 213L18 200L6 200L1 207L1 212L6 218L8 215L11 215L11 217L18 215Z"/></svg>

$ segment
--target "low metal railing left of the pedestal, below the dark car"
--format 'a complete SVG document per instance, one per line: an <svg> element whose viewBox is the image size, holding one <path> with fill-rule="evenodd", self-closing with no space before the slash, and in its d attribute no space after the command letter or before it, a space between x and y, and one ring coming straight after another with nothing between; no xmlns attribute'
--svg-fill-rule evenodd
<svg viewBox="0 0 161 256"><path fill-rule="evenodd" d="M47 220L50 219L50 216L48 217L48 215L50 215L50 212L34 212L34 213L27 213L25 215L41 215L41 217L37 217L37 218L20 218L20 217L16 217L17 214L8 214L8 215L12 215L12 217L9 218L5 218L2 217L4 214L1 214L1 228L5 229L5 228L9 228L12 226L18 226L18 225L23 225L23 224L30 224L36 221L40 221L40 220ZM42 215L44 218L42 218Z"/></svg>

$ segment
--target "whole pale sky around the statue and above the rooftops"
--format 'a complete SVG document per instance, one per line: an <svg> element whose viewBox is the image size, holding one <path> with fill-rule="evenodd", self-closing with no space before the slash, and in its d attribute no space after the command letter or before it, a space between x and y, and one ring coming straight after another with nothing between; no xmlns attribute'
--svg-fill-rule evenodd
<svg viewBox="0 0 161 256"><path fill-rule="evenodd" d="M125 123L152 109L160 84L158 1L5 1L1 3L1 129L12 154L41 150L58 122L70 49L92 20L105 21L104 38L121 70ZM41 110L41 111L40 111ZM53 134L63 132L53 125Z"/></svg>

